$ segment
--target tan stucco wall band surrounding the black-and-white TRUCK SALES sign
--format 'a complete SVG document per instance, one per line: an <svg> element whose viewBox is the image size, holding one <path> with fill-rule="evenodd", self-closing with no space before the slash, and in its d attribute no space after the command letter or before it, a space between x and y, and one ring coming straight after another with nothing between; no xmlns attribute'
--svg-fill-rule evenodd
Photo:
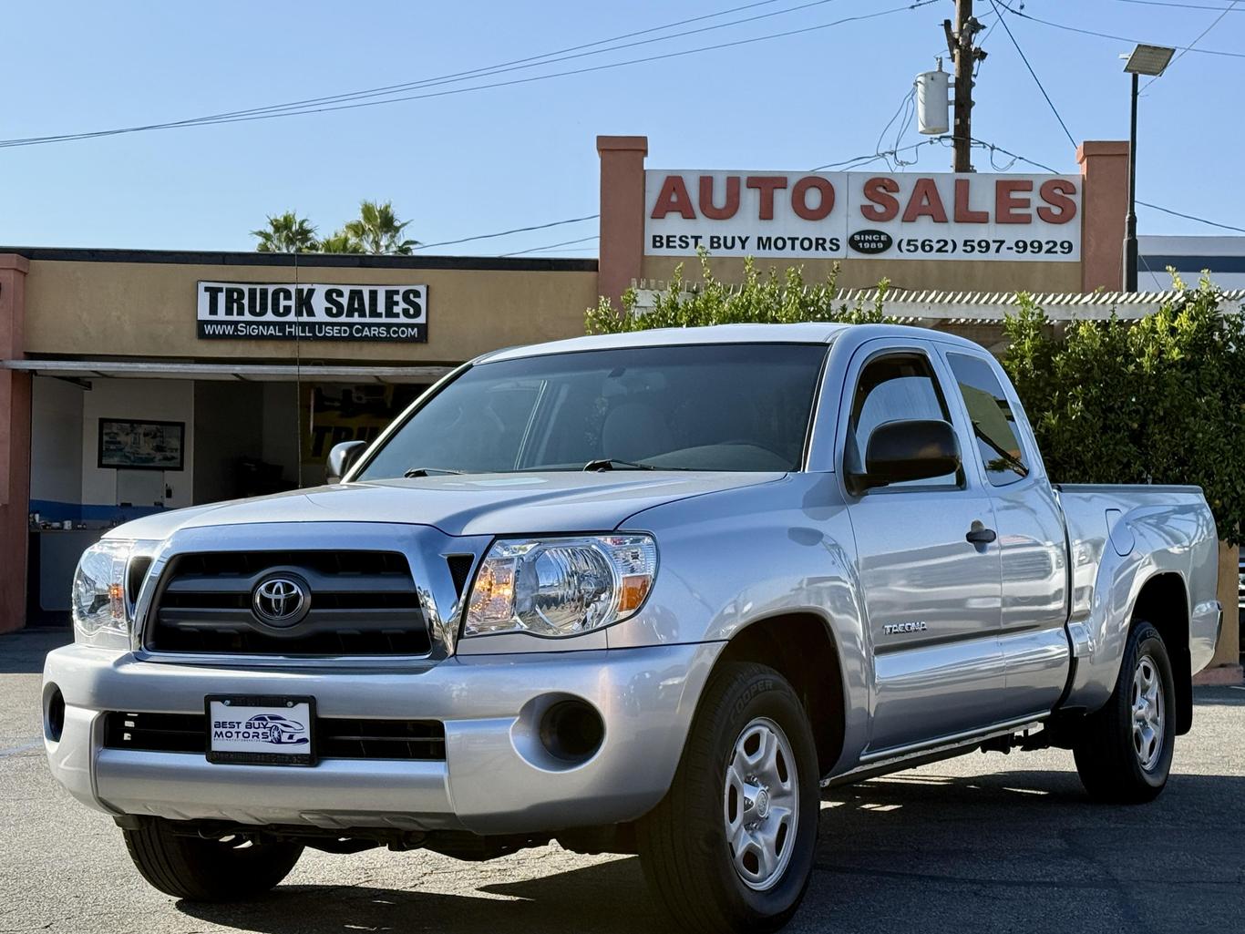
<svg viewBox="0 0 1245 934"><path fill-rule="evenodd" d="M309 260L310 262L310 260ZM199 340L199 280L293 283L288 267L31 259L26 355L289 361L293 341ZM459 362L514 344L583 334L596 273L310 267L303 283L427 284L427 344L304 341L304 361Z"/></svg>

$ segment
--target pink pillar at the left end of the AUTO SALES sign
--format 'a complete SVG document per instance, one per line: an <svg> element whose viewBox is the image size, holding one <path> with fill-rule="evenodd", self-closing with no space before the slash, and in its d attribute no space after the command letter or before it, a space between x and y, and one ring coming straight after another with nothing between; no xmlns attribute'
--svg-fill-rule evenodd
<svg viewBox="0 0 1245 934"><path fill-rule="evenodd" d="M646 136L599 136L601 243L596 288L621 309L622 291L644 262L644 157Z"/></svg>

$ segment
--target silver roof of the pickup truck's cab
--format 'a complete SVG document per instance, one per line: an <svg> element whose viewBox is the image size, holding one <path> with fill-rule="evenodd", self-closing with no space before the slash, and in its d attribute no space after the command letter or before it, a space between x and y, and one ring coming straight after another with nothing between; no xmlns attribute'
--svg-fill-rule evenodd
<svg viewBox="0 0 1245 934"><path fill-rule="evenodd" d="M845 331L868 330L876 337L924 337L966 347L980 345L944 331L929 328L911 328L898 324L830 324L802 321L796 324L715 324L707 328L655 328L624 334L596 334L585 337L568 337L547 344L528 344L505 347L477 357L477 362L517 360L548 354L576 354L585 350L613 350L619 347L666 347L690 344L830 344Z"/></svg>

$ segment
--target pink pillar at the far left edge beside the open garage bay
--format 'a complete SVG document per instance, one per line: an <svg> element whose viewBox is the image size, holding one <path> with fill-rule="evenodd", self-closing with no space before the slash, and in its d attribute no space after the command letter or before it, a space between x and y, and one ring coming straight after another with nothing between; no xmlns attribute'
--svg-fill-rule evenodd
<svg viewBox="0 0 1245 934"><path fill-rule="evenodd" d="M0 361L24 356L30 263L0 253ZM0 369L0 633L26 624L30 511L30 375Z"/></svg>

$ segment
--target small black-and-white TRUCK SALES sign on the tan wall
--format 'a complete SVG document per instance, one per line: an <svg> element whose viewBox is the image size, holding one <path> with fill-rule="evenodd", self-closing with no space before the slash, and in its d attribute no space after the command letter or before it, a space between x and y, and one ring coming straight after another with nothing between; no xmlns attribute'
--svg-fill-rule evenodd
<svg viewBox="0 0 1245 934"><path fill-rule="evenodd" d="M199 283L204 340L428 340L427 285Z"/></svg>

